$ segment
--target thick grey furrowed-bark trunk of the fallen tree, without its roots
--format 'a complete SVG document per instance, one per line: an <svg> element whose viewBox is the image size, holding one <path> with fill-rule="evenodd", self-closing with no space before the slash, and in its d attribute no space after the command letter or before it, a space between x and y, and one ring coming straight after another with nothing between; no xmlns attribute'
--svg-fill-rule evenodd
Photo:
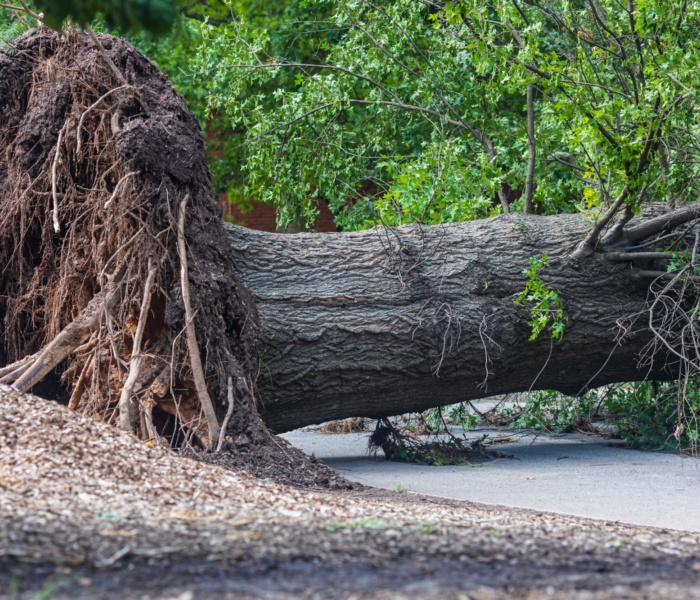
<svg viewBox="0 0 700 600"><path fill-rule="evenodd" d="M590 231L578 216L340 234L228 231L237 278L259 313L258 407L278 432L673 376L663 360L640 368L648 328L618 341L619 325L645 311L645 273L617 253L567 260ZM529 310L514 302L529 258L543 254L550 267L540 277L559 291L569 318L559 341L546 331L529 341Z"/></svg>

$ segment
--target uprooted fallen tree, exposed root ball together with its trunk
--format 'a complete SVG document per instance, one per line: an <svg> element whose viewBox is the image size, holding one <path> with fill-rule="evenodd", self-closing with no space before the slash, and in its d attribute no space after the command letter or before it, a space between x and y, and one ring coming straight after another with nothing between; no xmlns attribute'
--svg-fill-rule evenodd
<svg viewBox="0 0 700 600"><path fill-rule="evenodd" d="M695 276L652 251L697 244L696 205L608 228L620 204L595 227L225 228L198 124L152 63L75 30L14 46L0 55L0 383L53 377L51 395L142 439L293 464L265 424L694 368ZM532 307L514 297L543 254L536 276L568 322L530 342Z"/></svg>

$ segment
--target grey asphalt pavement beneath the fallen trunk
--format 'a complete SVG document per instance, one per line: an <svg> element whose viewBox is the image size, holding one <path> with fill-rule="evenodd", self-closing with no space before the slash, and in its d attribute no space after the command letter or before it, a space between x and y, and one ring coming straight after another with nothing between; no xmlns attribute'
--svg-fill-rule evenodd
<svg viewBox="0 0 700 600"><path fill-rule="evenodd" d="M580 517L700 531L700 459L642 452L597 436L481 428L510 437L494 449L513 456L472 465L424 466L367 454L368 433L285 434L351 481L398 491Z"/></svg>

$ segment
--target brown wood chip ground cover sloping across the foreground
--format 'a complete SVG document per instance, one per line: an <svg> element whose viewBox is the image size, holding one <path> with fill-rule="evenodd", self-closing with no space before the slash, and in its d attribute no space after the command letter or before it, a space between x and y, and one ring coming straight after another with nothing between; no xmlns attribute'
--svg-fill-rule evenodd
<svg viewBox="0 0 700 600"><path fill-rule="evenodd" d="M699 542L283 486L0 388L0 597L700 598Z"/></svg>

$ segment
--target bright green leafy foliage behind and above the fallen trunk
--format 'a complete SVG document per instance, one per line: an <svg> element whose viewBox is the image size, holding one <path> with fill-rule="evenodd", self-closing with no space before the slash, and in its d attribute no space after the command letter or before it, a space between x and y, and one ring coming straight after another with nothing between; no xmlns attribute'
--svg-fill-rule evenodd
<svg viewBox="0 0 700 600"><path fill-rule="evenodd" d="M346 228L523 210L530 166L539 213L697 189L696 2L239 4L196 67L249 194L290 218L315 198Z"/></svg>

